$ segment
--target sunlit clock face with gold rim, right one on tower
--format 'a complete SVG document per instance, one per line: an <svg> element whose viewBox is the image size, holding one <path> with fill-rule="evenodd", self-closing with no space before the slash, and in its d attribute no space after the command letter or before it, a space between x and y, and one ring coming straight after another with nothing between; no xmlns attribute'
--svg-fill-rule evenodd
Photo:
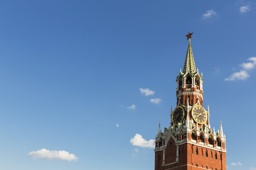
<svg viewBox="0 0 256 170"><path fill-rule="evenodd" d="M199 124L204 124L207 121L207 113L205 109L199 105L192 108L192 117Z"/></svg>

